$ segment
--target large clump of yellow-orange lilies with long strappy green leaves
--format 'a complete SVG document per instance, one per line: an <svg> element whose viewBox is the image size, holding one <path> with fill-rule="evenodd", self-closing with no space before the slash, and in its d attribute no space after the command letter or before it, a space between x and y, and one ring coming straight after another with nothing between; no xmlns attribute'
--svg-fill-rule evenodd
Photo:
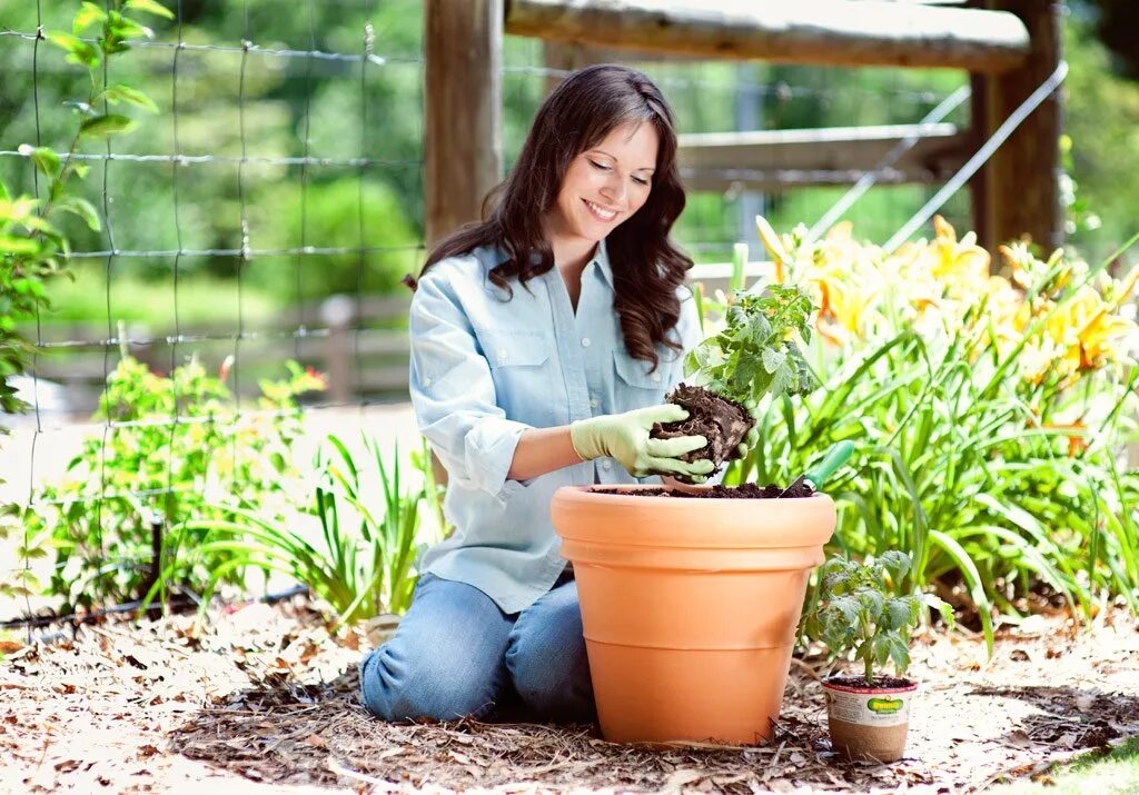
<svg viewBox="0 0 1139 795"><path fill-rule="evenodd" d="M788 264L817 268L820 280L852 273L827 282L831 311L853 306L880 325L841 344L827 335L845 327L833 317L820 327L808 351L827 374L820 388L763 403L762 443L724 483L786 483L851 440L852 464L827 489L839 511L834 543L855 557L904 551L906 585L975 610L990 645L994 613L1023 614L1032 592L1087 613L1101 593L1139 609L1139 472L1122 460L1137 439L1139 368L1108 355L1109 334L1129 322L1115 313L1123 282L1103 273L1115 257L1092 268L1021 252L1023 288L976 271L980 292L967 294L983 252L966 240L939 237L885 262L851 245L803 248ZM898 276L901 260L921 257L944 269L949 292ZM863 272L863 261L876 264ZM875 272L893 280L875 284ZM910 282L935 302L925 314L896 300ZM943 312L931 315L933 305Z"/></svg>

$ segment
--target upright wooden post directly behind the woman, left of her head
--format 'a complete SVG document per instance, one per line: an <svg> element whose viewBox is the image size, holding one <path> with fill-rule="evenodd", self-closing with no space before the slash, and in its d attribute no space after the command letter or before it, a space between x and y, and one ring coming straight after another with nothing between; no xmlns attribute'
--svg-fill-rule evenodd
<svg viewBox="0 0 1139 795"><path fill-rule="evenodd" d="M502 172L502 0L424 7L424 202L431 247L481 218Z"/></svg>

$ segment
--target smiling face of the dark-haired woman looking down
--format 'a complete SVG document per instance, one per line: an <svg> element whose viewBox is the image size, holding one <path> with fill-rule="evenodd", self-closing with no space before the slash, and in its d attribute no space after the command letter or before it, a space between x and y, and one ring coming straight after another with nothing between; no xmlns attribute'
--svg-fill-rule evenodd
<svg viewBox="0 0 1139 795"><path fill-rule="evenodd" d="M549 231L597 243L648 199L659 137L652 123L625 123L577 155L562 180Z"/></svg>

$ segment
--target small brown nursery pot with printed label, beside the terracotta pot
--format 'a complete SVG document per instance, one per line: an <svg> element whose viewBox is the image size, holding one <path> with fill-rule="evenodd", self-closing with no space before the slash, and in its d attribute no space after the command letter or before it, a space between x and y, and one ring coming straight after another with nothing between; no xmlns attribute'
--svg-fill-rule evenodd
<svg viewBox="0 0 1139 795"><path fill-rule="evenodd" d="M852 682L861 682L861 685ZM910 705L918 683L893 680L894 687L868 687L860 677L822 680L827 694L827 723L835 751L852 760L894 762L906 751Z"/></svg>

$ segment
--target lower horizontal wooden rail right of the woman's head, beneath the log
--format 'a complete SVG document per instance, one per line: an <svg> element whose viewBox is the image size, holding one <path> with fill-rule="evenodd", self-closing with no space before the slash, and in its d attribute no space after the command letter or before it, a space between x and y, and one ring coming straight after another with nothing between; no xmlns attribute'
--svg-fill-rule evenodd
<svg viewBox="0 0 1139 795"><path fill-rule="evenodd" d="M892 124L685 134L678 157L685 186L691 190L850 185L913 134L918 140L888 166L880 182L940 182L970 154L970 136L952 124Z"/></svg>

